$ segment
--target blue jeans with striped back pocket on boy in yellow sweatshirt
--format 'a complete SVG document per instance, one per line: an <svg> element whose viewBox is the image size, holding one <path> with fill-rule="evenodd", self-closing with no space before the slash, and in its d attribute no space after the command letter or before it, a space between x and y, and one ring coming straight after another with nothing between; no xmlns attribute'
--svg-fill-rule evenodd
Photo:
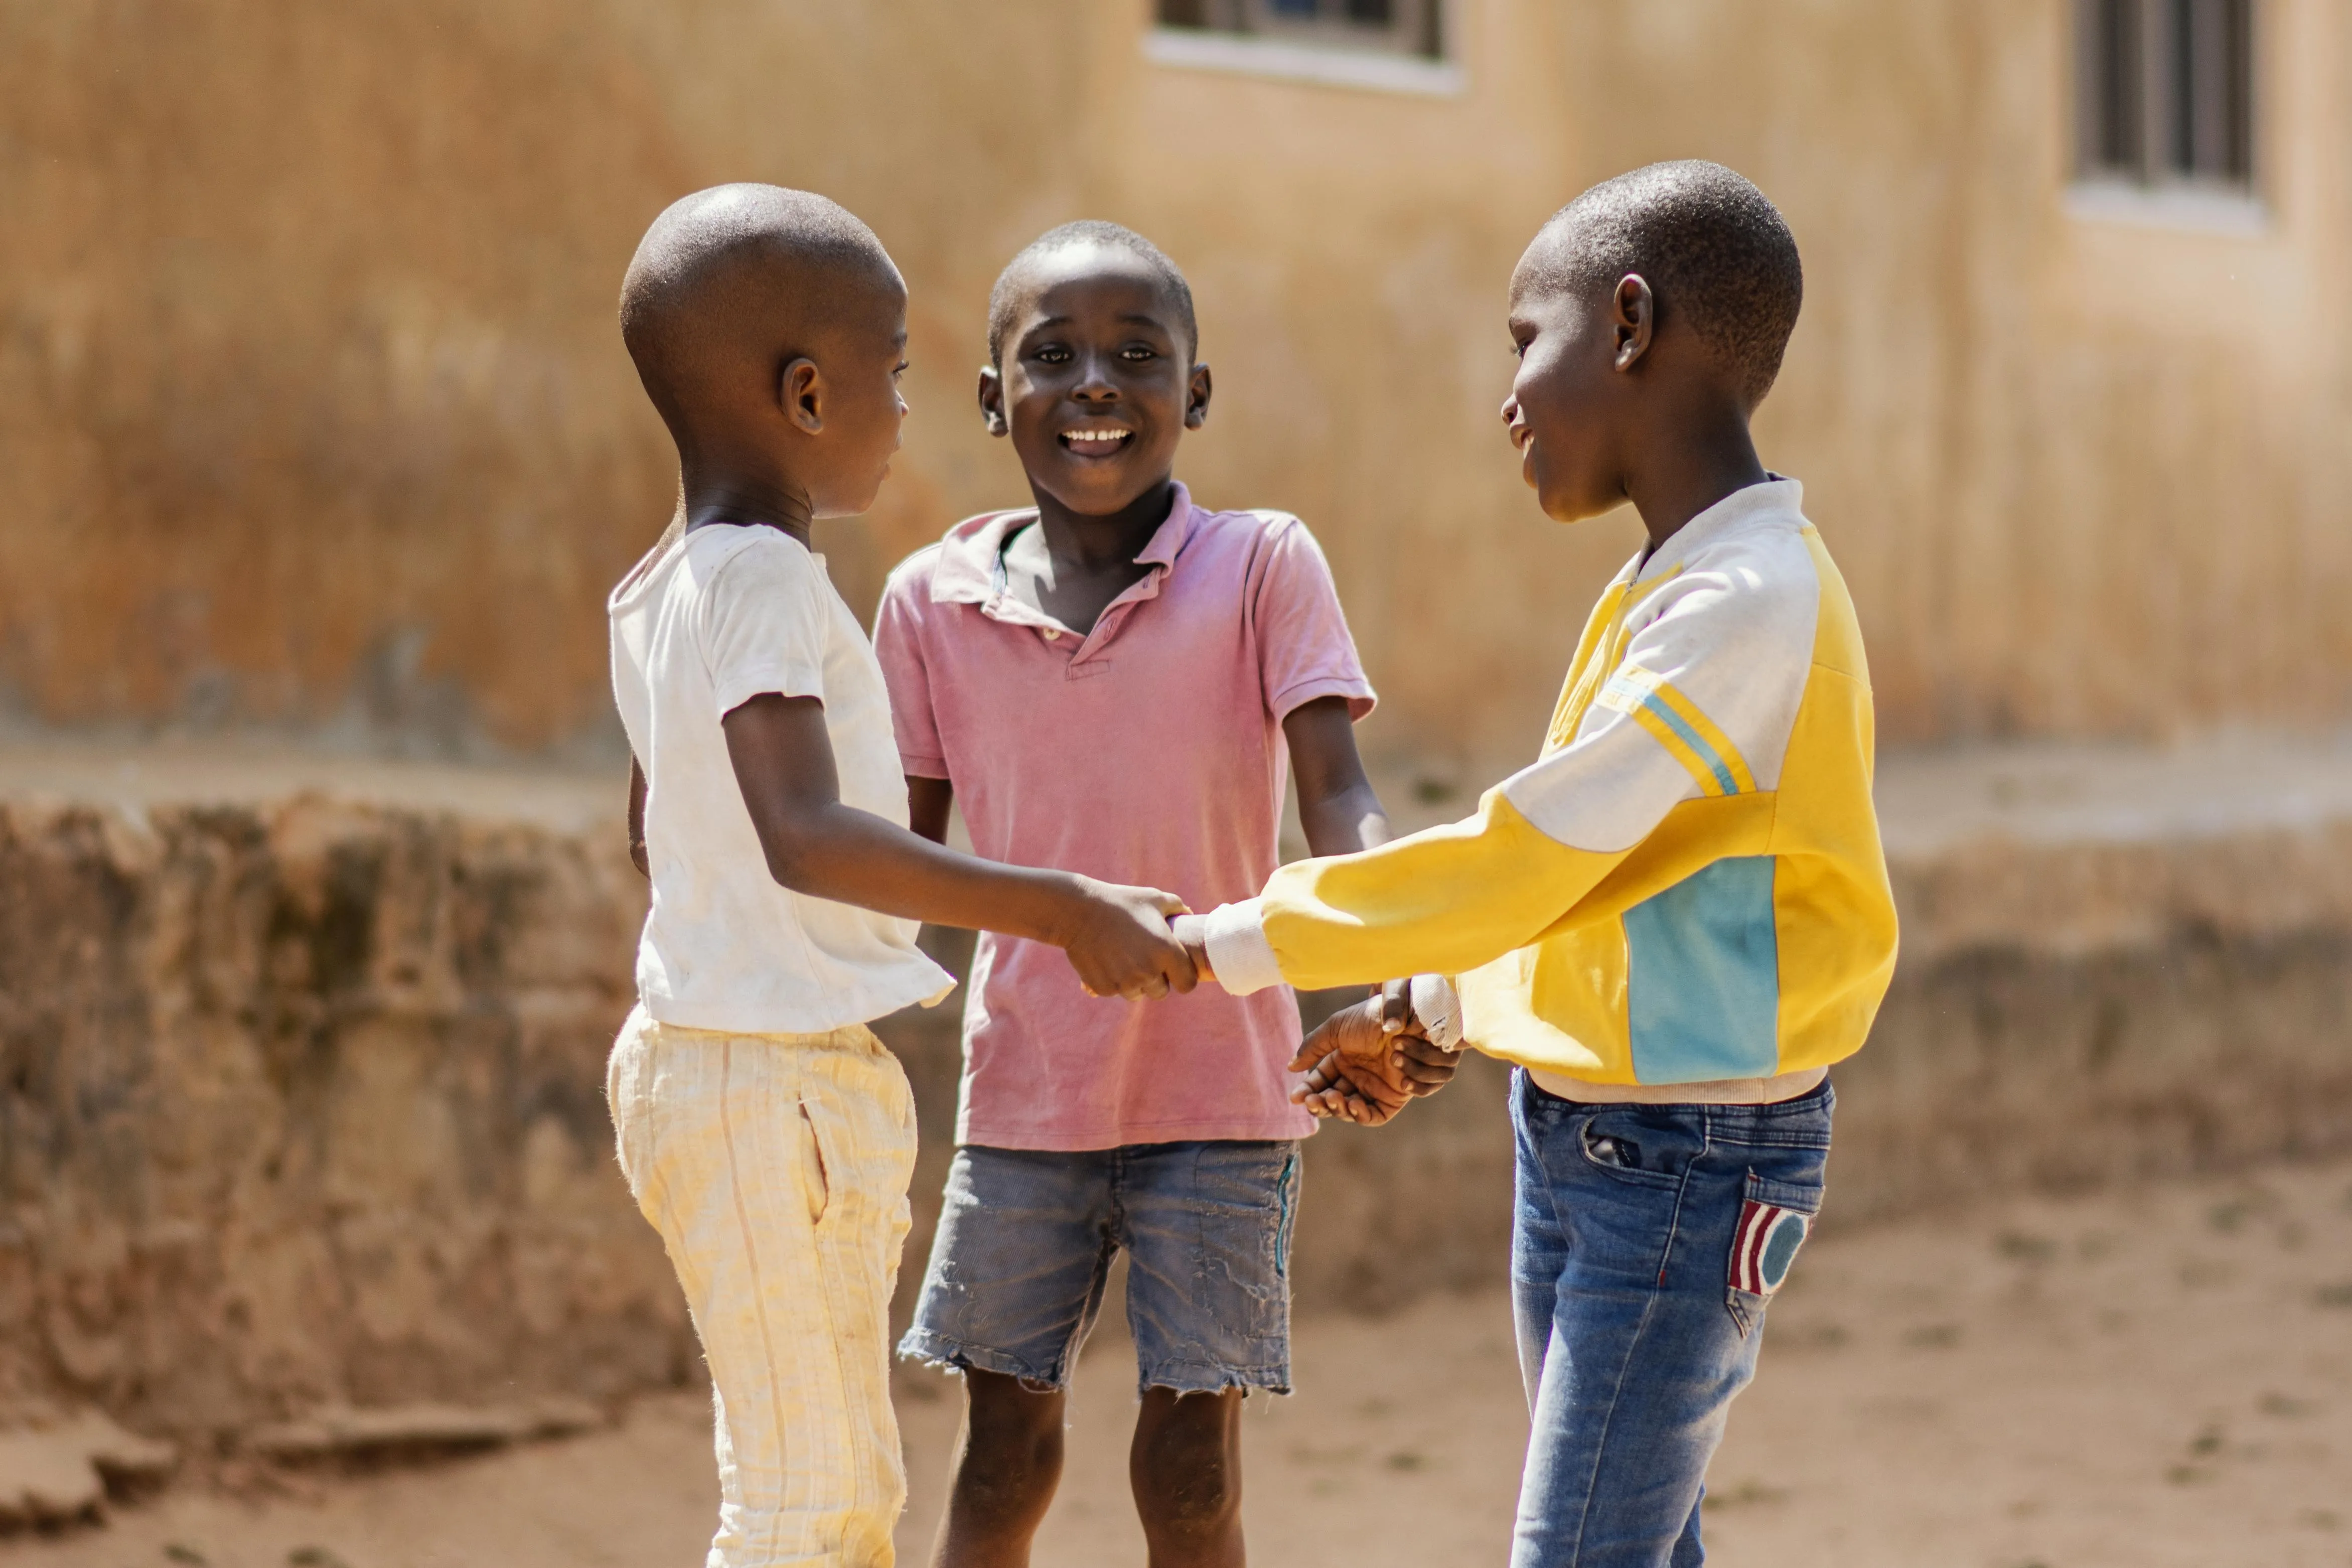
<svg viewBox="0 0 2352 1568"><path fill-rule="evenodd" d="M1820 1211L1835 1103L1823 1084L1780 1105L1583 1105L1512 1074L1534 1422L1512 1568L1705 1561L1708 1460Z"/></svg>

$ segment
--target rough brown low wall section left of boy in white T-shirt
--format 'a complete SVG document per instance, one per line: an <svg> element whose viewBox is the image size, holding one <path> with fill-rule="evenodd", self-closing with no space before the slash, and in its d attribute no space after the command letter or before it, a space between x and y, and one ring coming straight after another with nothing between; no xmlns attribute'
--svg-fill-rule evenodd
<svg viewBox="0 0 2352 1568"><path fill-rule="evenodd" d="M0 809L0 1403L188 1434L689 1375L602 1103L633 884L456 813Z"/></svg>

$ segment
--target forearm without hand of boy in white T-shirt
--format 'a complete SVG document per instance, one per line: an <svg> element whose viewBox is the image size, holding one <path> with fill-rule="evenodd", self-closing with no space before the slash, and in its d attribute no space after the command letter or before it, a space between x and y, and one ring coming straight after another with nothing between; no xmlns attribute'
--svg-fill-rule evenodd
<svg viewBox="0 0 2352 1568"><path fill-rule="evenodd" d="M1061 945L1080 903L1070 872L978 860L840 802L795 811L762 839L769 872L795 893L934 926Z"/></svg>

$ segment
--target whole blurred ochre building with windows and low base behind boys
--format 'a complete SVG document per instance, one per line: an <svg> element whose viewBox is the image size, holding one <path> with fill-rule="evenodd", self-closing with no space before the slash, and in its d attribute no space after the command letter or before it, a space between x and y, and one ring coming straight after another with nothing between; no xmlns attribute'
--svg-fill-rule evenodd
<svg viewBox="0 0 2352 1568"><path fill-rule="evenodd" d="M1637 543L1519 484L1512 261L1663 158L1804 247L1762 447L1893 743L1832 1220L2352 1147L2340 0L0 0L0 1429L696 1375L602 1107L602 602L675 487L614 299L670 200L823 190L908 275L858 614L1025 498L1000 266L1155 237L1178 473L1312 524L1425 823ZM929 1208L955 1023L889 1032ZM1301 1300L1498 1279L1489 1065L1381 1138L1312 1143Z"/></svg>

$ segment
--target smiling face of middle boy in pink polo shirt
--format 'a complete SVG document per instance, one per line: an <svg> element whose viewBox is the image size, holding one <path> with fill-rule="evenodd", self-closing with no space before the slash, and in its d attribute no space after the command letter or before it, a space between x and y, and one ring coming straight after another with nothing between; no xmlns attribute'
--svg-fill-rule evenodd
<svg viewBox="0 0 2352 1568"><path fill-rule="evenodd" d="M1209 416L1209 367L1167 282L1094 242L1023 263L1002 367L981 371L981 416L1011 435L1030 487L1108 517L1169 482L1176 442Z"/></svg>

